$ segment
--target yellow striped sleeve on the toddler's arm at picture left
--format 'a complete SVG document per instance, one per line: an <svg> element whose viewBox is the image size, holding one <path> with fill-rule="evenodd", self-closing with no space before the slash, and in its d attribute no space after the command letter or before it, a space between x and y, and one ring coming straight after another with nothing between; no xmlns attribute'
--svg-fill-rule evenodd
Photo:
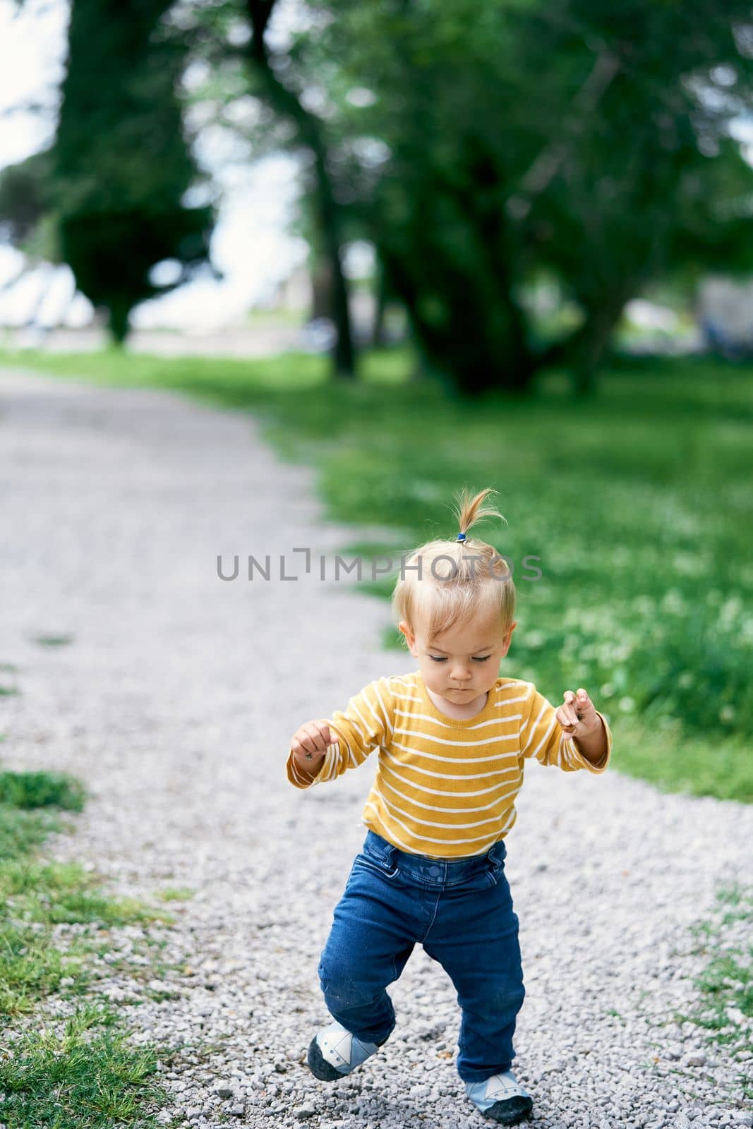
<svg viewBox="0 0 753 1129"><path fill-rule="evenodd" d="M392 739L394 703L387 679L369 682L348 702L344 711L336 710L327 718L334 738L327 749L318 773L308 779L298 769L292 750L288 752L288 780L296 788L310 788L325 780L334 780L347 769L358 768L379 745Z"/></svg>

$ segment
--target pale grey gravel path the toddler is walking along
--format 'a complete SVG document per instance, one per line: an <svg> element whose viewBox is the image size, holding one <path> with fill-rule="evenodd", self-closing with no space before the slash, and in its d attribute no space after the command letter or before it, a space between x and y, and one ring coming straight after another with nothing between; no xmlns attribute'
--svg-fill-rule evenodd
<svg viewBox="0 0 753 1129"><path fill-rule="evenodd" d="M292 575L294 548L331 563L362 531L323 520L313 472L278 461L253 418L167 393L3 370L0 465L0 662L21 691L1 700L3 761L65 769L91 791L77 833L47 854L88 859L114 893L196 892L174 903L166 956L190 965L165 980L175 998L124 1006L135 1039L183 1044L170 1115L491 1124L455 1073L452 983L420 947L391 989L399 1026L384 1051L336 1086L304 1065L326 1021L316 965L376 762L297 791L288 738L413 660L379 649L388 611L350 581L314 569L224 583L216 558L283 553ZM40 647L40 634L72 642ZM692 1006L708 960L691 925L718 886L753 873L753 808L534 763L519 813L507 873L533 1124L750 1126L739 1064L672 1016ZM110 990L139 989L114 978Z"/></svg>

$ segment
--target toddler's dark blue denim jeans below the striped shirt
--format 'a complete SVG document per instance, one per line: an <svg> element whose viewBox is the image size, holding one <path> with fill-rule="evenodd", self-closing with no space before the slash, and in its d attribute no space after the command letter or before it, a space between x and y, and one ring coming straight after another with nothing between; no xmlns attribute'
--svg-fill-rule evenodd
<svg viewBox="0 0 753 1129"><path fill-rule="evenodd" d="M457 989L463 1082L509 1070L525 989L506 854L500 839L485 855L435 859L369 831L318 965L332 1017L365 1042L388 1039L395 1010L385 988L418 942Z"/></svg>

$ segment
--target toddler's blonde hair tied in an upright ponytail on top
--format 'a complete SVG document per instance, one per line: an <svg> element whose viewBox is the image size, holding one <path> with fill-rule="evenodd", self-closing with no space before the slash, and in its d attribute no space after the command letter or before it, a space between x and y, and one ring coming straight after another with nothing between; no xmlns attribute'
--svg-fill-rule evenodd
<svg viewBox="0 0 753 1129"><path fill-rule="evenodd" d="M498 517L507 524L497 509L482 508L484 499L494 493L488 488L472 497L464 487L455 495L454 514L466 540L428 541L402 561L392 594L395 625L404 620L415 634L420 621L432 640L458 621L487 613L499 616L504 633L509 630L516 598L513 572L493 545L467 536L484 517Z"/></svg>

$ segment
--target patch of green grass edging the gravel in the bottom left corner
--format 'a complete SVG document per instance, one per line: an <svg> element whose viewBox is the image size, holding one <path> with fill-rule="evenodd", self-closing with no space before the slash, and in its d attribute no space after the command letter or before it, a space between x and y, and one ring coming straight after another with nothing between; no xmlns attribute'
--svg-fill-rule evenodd
<svg viewBox="0 0 753 1129"><path fill-rule="evenodd" d="M122 1019L96 1001L93 957L112 959L111 930L165 920L133 899L112 899L98 876L75 863L45 861L40 848L65 830L85 790L58 772L0 772L0 1120L7 1129L155 1127L168 1101L156 1085L152 1047L129 1044ZM60 928L76 925L63 947ZM58 942L58 943L56 943ZM148 942L146 945L148 946ZM131 939L133 952L145 945ZM147 978L154 968L133 965ZM47 999L72 1013L46 1014Z"/></svg>

